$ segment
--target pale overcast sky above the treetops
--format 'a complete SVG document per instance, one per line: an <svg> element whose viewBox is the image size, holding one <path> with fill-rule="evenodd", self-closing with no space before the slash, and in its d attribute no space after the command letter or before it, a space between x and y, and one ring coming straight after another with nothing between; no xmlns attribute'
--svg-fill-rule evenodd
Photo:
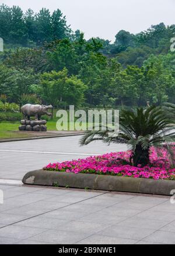
<svg viewBox="0 0 175 256"><path fill-rule="evenodd" d="M37 12L42 7L53 12L59 8L73 30L89 37L114 41L121 29L139 33L151 25L175 23L175 0L0 0L1 4L19 5L23 11Z"/></svg>

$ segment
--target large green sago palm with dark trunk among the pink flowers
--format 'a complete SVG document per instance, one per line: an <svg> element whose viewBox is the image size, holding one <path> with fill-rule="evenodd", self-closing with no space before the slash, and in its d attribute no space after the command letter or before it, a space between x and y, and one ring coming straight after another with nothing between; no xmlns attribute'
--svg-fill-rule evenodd
<svg viewBox="0 0 175 256"><path fill-rule="evenodd" d="M131 146L131 161L134 166L149 164L149 148L165 147L171 154L171 144L175 141L175 126L165 115L161 106L149 106L146 110L136 108L122 109L120 112L120 131L111 136L111 130L87 131L80 140L81 145L102 140L104 143L123 143Z"/></svg>

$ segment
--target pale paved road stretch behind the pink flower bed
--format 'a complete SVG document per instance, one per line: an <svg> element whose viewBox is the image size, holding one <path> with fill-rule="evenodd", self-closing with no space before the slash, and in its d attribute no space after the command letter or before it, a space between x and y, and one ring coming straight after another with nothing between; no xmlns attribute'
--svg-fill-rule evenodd
<svg viewBox="0 0 175 256"><path fill-rule="evenodd" d="M41 169L50 162L85 158L93 154L124 151L124 145L107 146L95 141L79 146L81 136L24 140L0 143L0 178L22 179L28 171Z"/></svg>

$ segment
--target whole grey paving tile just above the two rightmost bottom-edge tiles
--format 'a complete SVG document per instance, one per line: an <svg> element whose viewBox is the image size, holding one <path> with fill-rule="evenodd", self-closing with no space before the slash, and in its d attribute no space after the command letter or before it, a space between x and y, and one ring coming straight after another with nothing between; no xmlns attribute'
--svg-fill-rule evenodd
<svg viewBox="0 0 175 256"><path fill-rule="evenodd" d="M99 231L98 234L103 236L112 236L120 238L129 238L134 240L141 240L144 237L152 234L155 230L153 229L142 229L138 227L127 227L120 224L108 227L102 231Z"/></svg>

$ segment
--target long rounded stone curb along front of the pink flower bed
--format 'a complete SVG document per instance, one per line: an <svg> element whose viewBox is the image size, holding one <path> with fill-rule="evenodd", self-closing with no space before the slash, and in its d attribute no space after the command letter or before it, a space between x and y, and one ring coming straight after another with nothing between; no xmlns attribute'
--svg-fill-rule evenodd
<svg viewBox="0 0 175 256"><path fill-rule="evenodd" d="M53 184L58 184L60 187L69 186L69 188L89 188L154 195L171 195L171 190L175 189L175 181L162 179L154 180L97 174L74 174L43 171L42 169L27 172L22 182L30 185L53 186Z"/></svg>

